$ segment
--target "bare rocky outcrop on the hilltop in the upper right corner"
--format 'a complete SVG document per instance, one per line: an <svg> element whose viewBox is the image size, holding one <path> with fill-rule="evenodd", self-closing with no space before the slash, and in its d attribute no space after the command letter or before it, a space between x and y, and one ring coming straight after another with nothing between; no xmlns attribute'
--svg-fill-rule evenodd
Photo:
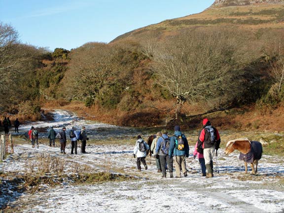
<svg viewBox="0 0 284 213"><path fill-rule="evenodd" d="M244 6L259 3L279 4L284 3L284 0L215 0L211 7Z"/></svg>

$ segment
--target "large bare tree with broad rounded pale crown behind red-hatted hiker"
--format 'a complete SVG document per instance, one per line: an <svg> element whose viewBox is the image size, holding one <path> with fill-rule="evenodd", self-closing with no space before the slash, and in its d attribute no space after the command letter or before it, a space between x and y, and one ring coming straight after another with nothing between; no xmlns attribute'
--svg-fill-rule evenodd
<svg viewBox="0 0 284 213"><path fill-rule="evenodd" d="M224 97L228 103L242 90L243 71L238 61L240 36L234 33L192 30L161 43L154 55L159 84L177 100L176 115L183 103L212 101ZM230 93L230 96L225 95Z"/></svg>

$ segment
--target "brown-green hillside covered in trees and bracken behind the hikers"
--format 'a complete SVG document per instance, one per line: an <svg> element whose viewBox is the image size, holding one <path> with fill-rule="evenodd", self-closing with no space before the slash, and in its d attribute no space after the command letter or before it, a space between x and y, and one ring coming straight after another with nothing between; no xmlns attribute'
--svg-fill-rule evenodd
<svg viewBox="0 0 284 213"><path fill-rule="evenodd" d="M11 26L0 29L17 38ZM73 104L117 125L186 128L218 111L254 106L261 116L272 114L284 101L283 40L284 5L259 4L211 7L71 51L3 42L11 57L0 72L13 78L0 81L7 100L0 113L38 117L39 106ZM17 55L16 47L26 54ZM217 124L245 128L231 118Z"/></svg>

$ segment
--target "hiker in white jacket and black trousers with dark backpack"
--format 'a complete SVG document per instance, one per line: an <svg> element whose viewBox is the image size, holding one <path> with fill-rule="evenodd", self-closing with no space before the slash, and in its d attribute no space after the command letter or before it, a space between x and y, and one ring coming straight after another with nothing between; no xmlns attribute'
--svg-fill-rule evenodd
<svg viewBox="0 0 284 213"><path fill-rule="evenodd" d="M148 169L145 158L146 158L146 151L149 150L150 147L149 145L143 141L143 139L141 138L141 135L137 136L137 141L135 143L135 147L133 150L133 157L136 158L137 157L137 169L138 171L141 171L141 162L145 167L145 170Z"/></svg>

